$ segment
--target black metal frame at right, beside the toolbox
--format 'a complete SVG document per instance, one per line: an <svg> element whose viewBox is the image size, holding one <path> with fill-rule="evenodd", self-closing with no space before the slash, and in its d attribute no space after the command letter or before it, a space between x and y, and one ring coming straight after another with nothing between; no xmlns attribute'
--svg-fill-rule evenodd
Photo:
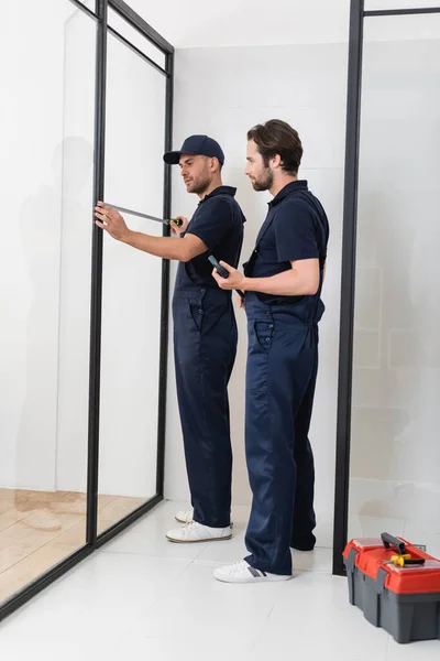
<svg viewBox="0 0 440 661"><path fill-rule="evenodd" d="M430 13L440 13L440 7L426 9L389 9L365 11L364 0L351 0L350 7L333 528L333 574L339 576L345 575L342 552L348 541L349 518L358 185L364 19L369 17L395 17Z"/></svg>

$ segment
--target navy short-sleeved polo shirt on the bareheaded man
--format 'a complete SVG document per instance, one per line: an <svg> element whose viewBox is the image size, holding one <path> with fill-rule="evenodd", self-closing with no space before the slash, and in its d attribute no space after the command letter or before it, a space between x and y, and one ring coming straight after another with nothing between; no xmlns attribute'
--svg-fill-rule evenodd
<svg viewBox="0 0 440 661"><path fill-rule="evenodd" d="M245 268L251 278L270 278L292 269L292 261L319 259L326 262L329 223L306 181L287 184L268 204L267 217L256 248ZM261 301L295 303L302 296L258 294Z"/></svg>

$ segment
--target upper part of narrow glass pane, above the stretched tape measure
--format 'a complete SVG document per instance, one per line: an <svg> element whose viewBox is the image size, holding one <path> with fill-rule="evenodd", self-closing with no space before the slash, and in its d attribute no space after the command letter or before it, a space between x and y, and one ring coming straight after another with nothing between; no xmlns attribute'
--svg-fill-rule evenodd
<svg viewBox="0 0 440 661"><path fill-rule="evenodd" d="M163 213L166 78L114 36L108 40L106 199Z"/></svg>

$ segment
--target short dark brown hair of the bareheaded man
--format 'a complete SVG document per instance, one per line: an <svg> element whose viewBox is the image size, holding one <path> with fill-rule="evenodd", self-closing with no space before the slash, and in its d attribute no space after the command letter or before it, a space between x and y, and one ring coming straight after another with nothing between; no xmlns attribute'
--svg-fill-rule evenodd
<svg viewBox="0 0 440 661"><path fill-rule="evenodd" d="M289 174L297 174L302 158L302 144L298 131L282 119L271 119L263 124L256 124L248 131L248 140L253 140L258 147L266 167L270 159L279 154L282 167Z"/></svg>

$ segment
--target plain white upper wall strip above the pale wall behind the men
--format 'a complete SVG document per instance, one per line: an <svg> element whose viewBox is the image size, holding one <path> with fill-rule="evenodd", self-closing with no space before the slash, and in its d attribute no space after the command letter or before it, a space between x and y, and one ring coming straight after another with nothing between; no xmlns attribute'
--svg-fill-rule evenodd
<svg viewBox="0 0 440 661"><path fill-rule="evenodd" d="M130 0L177 48L341 43L350 0Z"/></svg>

